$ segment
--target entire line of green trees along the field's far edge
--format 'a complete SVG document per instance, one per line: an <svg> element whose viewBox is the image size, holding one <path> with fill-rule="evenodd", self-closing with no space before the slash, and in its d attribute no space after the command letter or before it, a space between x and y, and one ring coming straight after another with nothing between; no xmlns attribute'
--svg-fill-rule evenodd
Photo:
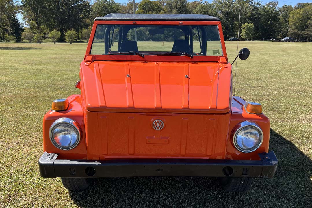
<svg viewBox="0 0 312 208"><path fill-rule="evenodd" d="M312 3L262 4L257 0L142 0L140 14L206 14L219 17L227 40L236 36L241 7L241 37L246 40L312 38ZM25 25L19 22L22 14ZM95 17L109 13L133 13L133 2L114 0L0 0L0 41L88 41Z"/></svg>

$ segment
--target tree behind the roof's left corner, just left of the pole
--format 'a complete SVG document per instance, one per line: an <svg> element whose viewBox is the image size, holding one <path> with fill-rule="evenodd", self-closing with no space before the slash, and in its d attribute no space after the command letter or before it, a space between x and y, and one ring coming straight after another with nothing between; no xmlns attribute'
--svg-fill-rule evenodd
<svg viewBox="0 0 312 208"><path fill-rule="evenodd" d="M91 17L103 17L109 13L119 13L120 4L114 0L97 0L91 7Z"/></svg>

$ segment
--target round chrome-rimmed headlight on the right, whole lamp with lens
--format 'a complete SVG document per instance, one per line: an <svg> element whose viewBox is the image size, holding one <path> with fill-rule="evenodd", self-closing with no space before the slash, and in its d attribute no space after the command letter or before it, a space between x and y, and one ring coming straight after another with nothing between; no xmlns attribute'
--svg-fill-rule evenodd
<svg viewBox="0 0 312 208"><path fill-rule="evenodd" d="M236 149L241 152L252 152L258 149L263 141L261 128L253 122L244 121L233 136L233 143Z"/></svg>

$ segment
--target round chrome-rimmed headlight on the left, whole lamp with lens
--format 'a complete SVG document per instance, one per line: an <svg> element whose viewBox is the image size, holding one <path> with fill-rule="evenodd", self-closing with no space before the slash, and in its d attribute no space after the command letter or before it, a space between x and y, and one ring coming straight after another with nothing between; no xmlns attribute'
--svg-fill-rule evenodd
<svg viewBox="0 0 312 208"><path fill-rule="evenodd" d="M59 149L75 148L80 141L78 124L70 118L57 119L50 127L50 140Z"/></svg>

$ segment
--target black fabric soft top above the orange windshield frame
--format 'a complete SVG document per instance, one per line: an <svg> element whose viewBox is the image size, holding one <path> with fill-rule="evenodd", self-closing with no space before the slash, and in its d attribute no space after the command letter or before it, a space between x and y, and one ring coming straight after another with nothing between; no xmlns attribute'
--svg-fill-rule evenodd
<svg viewBox="0 0 312 208"><path fill-rule="evenodd" d="M203 14L108 14L95 20L169 20L169 21L220 21L217 17Z"/></svg>

